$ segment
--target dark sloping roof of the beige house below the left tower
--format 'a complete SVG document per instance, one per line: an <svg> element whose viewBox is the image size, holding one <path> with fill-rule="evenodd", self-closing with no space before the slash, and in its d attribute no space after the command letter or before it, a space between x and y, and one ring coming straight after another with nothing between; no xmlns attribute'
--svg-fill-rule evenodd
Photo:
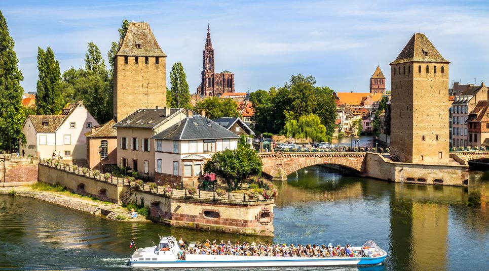
<svg viewBox="0 0 489 271"><path fill-rule="evenodd" d="M114 127L146 128L153 129L163 123L168 117L183 110L181 108L170 108L169 114L166 115L166 108L158 109L138 109L136 112L125 117Z"/></svg>

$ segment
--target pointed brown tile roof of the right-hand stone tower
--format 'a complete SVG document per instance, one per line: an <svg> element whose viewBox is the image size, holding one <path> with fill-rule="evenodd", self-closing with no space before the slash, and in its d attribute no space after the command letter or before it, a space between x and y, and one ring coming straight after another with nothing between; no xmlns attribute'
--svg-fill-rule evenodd
<svg viewBox="0 0 489 271"><path fill-rule="evenodd" d="M423 33L412 35L399 56L390 65L412 61L449 63Z"/></svg>

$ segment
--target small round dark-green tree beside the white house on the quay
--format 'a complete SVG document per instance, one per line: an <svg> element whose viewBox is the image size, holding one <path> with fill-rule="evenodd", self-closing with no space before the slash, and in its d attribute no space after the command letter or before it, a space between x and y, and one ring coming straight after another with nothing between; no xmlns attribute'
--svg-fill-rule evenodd
<svg viewBox="0 0 489 271"><path fill-rule="evenodd" d="M236 150L215 153L204 166L207 173L215 173L225 180L229 190L241 188L243 182L251 176L261 175L261 159L255 151L244 146Z"/></svg>

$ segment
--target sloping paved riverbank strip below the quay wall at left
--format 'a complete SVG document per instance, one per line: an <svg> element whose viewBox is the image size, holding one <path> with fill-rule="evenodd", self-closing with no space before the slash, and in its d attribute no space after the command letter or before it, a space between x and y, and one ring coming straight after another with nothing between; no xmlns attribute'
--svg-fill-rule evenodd
<svg viewBox="0 0 489 271"><path fill-rule="evenodd" d="M138 215L137 218L130 218L127 209L121 205L91 199L67 191L39 191L33 189L32 186L17 186L0 187L0 194L34 198L110 220L124 222L151 222L151 220L147 220L140 215Z"/></svg>

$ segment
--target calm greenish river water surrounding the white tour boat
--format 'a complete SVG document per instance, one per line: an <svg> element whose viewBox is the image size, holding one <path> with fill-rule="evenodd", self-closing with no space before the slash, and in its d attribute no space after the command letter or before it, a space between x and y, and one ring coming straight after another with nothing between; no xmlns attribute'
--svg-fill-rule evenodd
<svg viewBox="0 0 489 271"><path fill-rule="evenodd" d="M160 234L187 241L342 246L374 239L390 255L384 264L361 270L487 270L489 172L472 171L470 182L468 188L394 184L311 166L277 184L273 240L116 222L0 195L0 269L126 269L131 240L137 247L151 246Z"/></svg>

